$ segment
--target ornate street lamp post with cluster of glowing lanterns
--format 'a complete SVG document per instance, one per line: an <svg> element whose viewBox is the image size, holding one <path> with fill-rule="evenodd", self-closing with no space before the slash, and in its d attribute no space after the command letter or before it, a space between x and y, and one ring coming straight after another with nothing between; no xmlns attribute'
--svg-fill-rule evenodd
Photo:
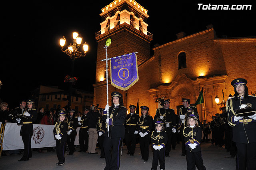
<svg viewBox="0 0 256 170"><path fill-rule="evenodd" d="M79 57L84 57L86 55L86 52L88 51L88 44L86 44L86 42L84 42L83 45L83 49L84 49L84 53L78 51L80 44L82 43L82 37L80 37L80 35L78 34L78 32L73 32L73 44L70 43L70 45L68 46L68 49L64 50L63 47L65 45L66 42L66 38L63 36L63 38L60 38L60 46L61 46L61 50L62 52L66 53L70 59L71 59L71 78L73 78L73 74L74 74L74 62L76 60L76 58ZM71 106L71 98L72 98L72 81L69 81L69 96L68 96L68 109L70 110L70 106Z"/></svg>

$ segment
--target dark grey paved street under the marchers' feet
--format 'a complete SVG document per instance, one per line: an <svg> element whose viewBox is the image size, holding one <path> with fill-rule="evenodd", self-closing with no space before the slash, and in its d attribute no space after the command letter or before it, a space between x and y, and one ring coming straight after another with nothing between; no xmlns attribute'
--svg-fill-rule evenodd
<svg viewBox="0 0 256 170"><path fill-rule="evenodd" d="M206 170L235 170L235 159L224 148L211 145L202 145L202 158ZM126 146L123 148L121 156L120 170L150 170L152 166L153 152L150 152L148 162L143 162L140 156L140 146L136 146L134 156L127 155ZM79 150L79 148L76 148ZM0 157L0 169L2 170L103 170L105 159L100 158L100 154L88 154L87 152L74 152L74 155L65 153L66 164L56 166L58 162L56 152L38 153L33 151L33 157L29 161L18 162L21 155L8 155ZM100 150L96 150L100 153ZM165 161L166 170L186 170L186 156L181 156L181 144L176 146L176 150L171 150L170 157ZM158 167L158 170L160 168Z"/></svg>

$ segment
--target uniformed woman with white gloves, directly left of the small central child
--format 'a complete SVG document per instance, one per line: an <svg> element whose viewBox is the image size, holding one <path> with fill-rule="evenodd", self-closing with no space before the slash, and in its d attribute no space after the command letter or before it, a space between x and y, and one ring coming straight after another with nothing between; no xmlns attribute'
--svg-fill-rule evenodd
<svg viewBox="0 0 256 170"><path fill-rule="evenodd" d="M140 119L137 123L137 129L140 137L140 152L144 162L148 161L148 150L149 150L149 142L150 142L150 134L152 132L153 127L153 118L148 115L149 107L141 106Z"/></svg>

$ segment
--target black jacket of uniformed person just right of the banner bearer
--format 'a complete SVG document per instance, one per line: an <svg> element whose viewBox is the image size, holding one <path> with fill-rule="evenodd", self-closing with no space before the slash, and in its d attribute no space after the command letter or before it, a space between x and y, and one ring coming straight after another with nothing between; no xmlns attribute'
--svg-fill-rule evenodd
<svg viewBox="0 0 256 170"><path fill-rule="evenodd" d="M137 122L139 121L140 116L136 113L129 113L126 116L126 134L134 134L135 130L137 130Z"/></svg>

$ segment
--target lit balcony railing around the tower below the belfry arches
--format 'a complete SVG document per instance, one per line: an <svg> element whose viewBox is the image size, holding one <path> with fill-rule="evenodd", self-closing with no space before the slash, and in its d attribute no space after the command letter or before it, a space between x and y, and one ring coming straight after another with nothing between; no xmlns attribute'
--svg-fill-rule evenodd
<svg viewBox="0 0 256 170"><path fill-rule="evenodd" d="M149 38L153 38L153 34L151 34L150 32L148 32L145 28L142 28L142 26L139 26L138 24L136 24L136 22L133 22L131 20L129 20L128 18L122 18L120 20L117 20L116 22L108 25L106 28L103 28L102 30L98 31L95 33L95 36L100 36L101 34L104 34L105 32L112 30L113 28L115 28L115 26L117 25L121 25L121 24L130 24L131 26L134 26L134 28L136 28L137 30L142 31L145 35L147 35Z"/></svg>

